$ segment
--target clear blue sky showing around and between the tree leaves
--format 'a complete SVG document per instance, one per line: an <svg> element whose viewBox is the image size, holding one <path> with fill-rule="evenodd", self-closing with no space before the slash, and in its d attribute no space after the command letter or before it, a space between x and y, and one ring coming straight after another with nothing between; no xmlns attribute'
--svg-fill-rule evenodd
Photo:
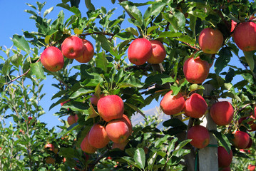
<svg viewBox="0 0 256 171"><path fill-rule="evenodd" d="M44 1L41 1L43 3ZM96 9L100 8L101 6L104 6L107 11L112 9L113 6L111 4L111 0L97 0L92 1L95 5ZM143 2L143 0L136 1L136 2ZM29 16L31 14L28 14L24 12L25 9L31 9L31 7L27 6L26 3L33 4L36 6L36 1L34 0L0 0L0 17L1 17L1 23L0 23L0 46L6 46L10 48L13 45L13 42L11 41L11 37L14 34L23 35L23 31L36 31L37 28L35 26L34 20L29 19ZM56 4L61 3L61 0L54 0L54 1L46 1L46 5L44 6L42 11L45 11L46 9L51 8L51 6L55 6L53 11L48 14L48 19L55 20L59 11L63 10L65 14L65 18L68 19L68 16L71 15L71 12L66 11L65 9L62 9L61 7L56 6ZM120 16L123 13L123 9L121 6L115 5L117 7L115 14L113 14L111 19L115 19L116 16ZM84 1L82 0L79 6L80 11L82 11L82 16L86 15L86 6L84 4ZM143 13L142 9L142 13ZM126 15L126 18L128 18L128 15ZM124 27L126 27L126 24L128 24L128 21L124 23ZM88 38L88 40L90 40ZM1 53L0 53L1 55ZM3 54L2 54L3 55ZM231 64L237 66L237 57L233 57L231 59ZM239 66L241 67L241 66ZM227 70L226 68L225 70ZM213 67L211 68L210 72L213 71ZM236 78L236 80L239 80L240 78ZM52 128L56 125L62 125L62 123L58 120L58 116L54 116L53 113L58 112L58 110L61 108L61 105L57 105L56 107L52 108L51 110L48 110L49 106L56 102L56 100L51 100L51 97L58 92L58 88L54 88L51 86L52 83L56 83L55 80L53 80L51 77L47 76L46 80L43 81L44 87L42 90L42 93L46 93L46 95L43 97L43 100L41 100L40 105L45 110L46 114L41 116L39 120L41 122L47 123L48 128ZM49 91L50 90L50 91ZM145 110L148 110L150 108L154 108L155 105L159 105L158 103L153 103L153 106L148 106L145 108ZM66 117L63 117L62 119L66 120Z"/></svg>

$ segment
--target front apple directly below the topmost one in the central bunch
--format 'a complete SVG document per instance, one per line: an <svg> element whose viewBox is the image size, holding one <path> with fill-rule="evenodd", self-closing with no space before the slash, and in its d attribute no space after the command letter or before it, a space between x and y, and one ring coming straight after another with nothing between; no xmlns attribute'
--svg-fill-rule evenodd
<svg viewBox="0 0 256 171"><path fill-rule="evenodd" d="M123 120L111 120L111 122L106 125L106 133L108 138L116 143L122 143L129 137L130 130L128 125Z"/></svg>

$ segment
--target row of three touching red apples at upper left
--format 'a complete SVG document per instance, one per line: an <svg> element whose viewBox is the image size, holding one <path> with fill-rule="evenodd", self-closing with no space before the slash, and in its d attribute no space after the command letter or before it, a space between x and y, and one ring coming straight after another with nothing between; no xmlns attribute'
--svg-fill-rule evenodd
<svg viewBox="0 0 256 171"><path fill-rule="evenodd" d="M49 46L41 53L40 59L44 68L56 72L63 68L64 56L76 59L80 63L87 63L94 56L93 44L86 39L69 36L61 44L61 50L55 46Z"/></svg>

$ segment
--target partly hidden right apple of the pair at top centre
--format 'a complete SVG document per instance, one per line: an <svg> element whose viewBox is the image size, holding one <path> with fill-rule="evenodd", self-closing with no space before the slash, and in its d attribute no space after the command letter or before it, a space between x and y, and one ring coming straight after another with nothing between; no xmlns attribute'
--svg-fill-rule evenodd
<svg viewBox="0 0 256 171"><path fill-rule="evenodd" d="M165 47L163 43L157 40L150 41L152 46L152 55L148 59L148 63L158 64L162 63L166 56Z"/></svg>

